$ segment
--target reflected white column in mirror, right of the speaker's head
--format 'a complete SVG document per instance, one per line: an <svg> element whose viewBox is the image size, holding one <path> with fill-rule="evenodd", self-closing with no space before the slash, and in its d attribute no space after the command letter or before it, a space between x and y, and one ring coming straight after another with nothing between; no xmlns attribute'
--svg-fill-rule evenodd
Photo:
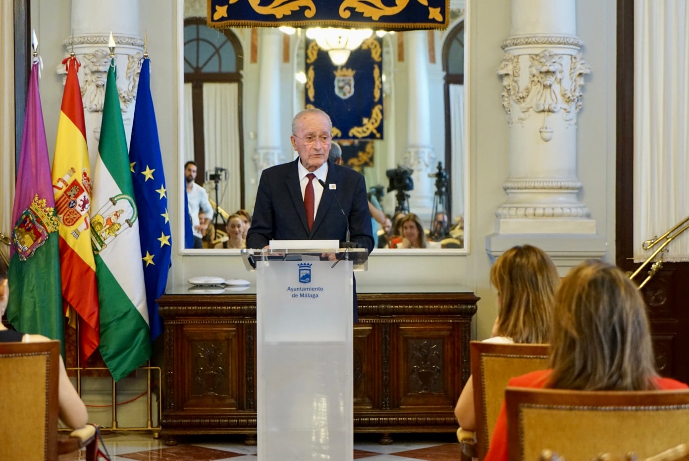
<svg viewBox="0 0 689 461"><path fill-rule="evenodd" d="M410 211L426 222L433 207L433 181L437 163L431 145L431 108L429 107L428 32L404 32L407 74L409 76L409 110L407 119L407 152L401 164L414 170L414 189L409 193Z"/></svg>

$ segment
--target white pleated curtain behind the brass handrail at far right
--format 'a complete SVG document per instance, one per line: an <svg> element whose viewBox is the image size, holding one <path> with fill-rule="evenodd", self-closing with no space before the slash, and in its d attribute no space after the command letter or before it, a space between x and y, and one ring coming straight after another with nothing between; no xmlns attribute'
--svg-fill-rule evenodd
<svg viewBox="0 0 689 461"><path fill-rule="evenodd" d="M644 240L689 215L689 8L686 0L634 3L634 258ZM656 247L657 248L657 247ZM689 260L689 231L664 260Z"/></svg>

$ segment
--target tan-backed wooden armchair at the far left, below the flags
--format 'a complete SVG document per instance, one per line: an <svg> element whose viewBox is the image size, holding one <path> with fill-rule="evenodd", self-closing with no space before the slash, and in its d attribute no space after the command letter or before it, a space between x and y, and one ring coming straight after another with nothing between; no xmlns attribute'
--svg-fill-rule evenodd
<svg viewBox="0 0 689 461"><path fill-rule="evenodd" d="M57 429L60 342L0 342L0 460L53 461L86 447L96 460L95 428Z"/></svg>

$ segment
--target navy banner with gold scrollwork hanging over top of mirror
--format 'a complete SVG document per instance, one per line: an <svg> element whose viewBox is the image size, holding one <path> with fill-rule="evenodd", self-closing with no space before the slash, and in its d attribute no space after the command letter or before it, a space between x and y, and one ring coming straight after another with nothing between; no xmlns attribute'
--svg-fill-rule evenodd
<svg viewBox="0 0 689 461"><path fill-rule="evenodd" d="M444 29L449 0L208 0L210 27Z"/></svg>

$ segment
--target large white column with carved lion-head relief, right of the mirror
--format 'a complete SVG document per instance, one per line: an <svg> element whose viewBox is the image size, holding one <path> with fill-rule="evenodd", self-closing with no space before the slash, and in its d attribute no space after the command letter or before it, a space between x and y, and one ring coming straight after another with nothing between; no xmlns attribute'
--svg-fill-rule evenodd
<svg viewBox="0 0 689 461"><path fill-rule="evenodd" d="M520 243L567 248L551 252L564 266L600 257L605 242L579 201L576 123L591 71L576 36L576 1L512 0L511 19L497 71L509 127L507 198L486 247L496 256Z"/></svg>

